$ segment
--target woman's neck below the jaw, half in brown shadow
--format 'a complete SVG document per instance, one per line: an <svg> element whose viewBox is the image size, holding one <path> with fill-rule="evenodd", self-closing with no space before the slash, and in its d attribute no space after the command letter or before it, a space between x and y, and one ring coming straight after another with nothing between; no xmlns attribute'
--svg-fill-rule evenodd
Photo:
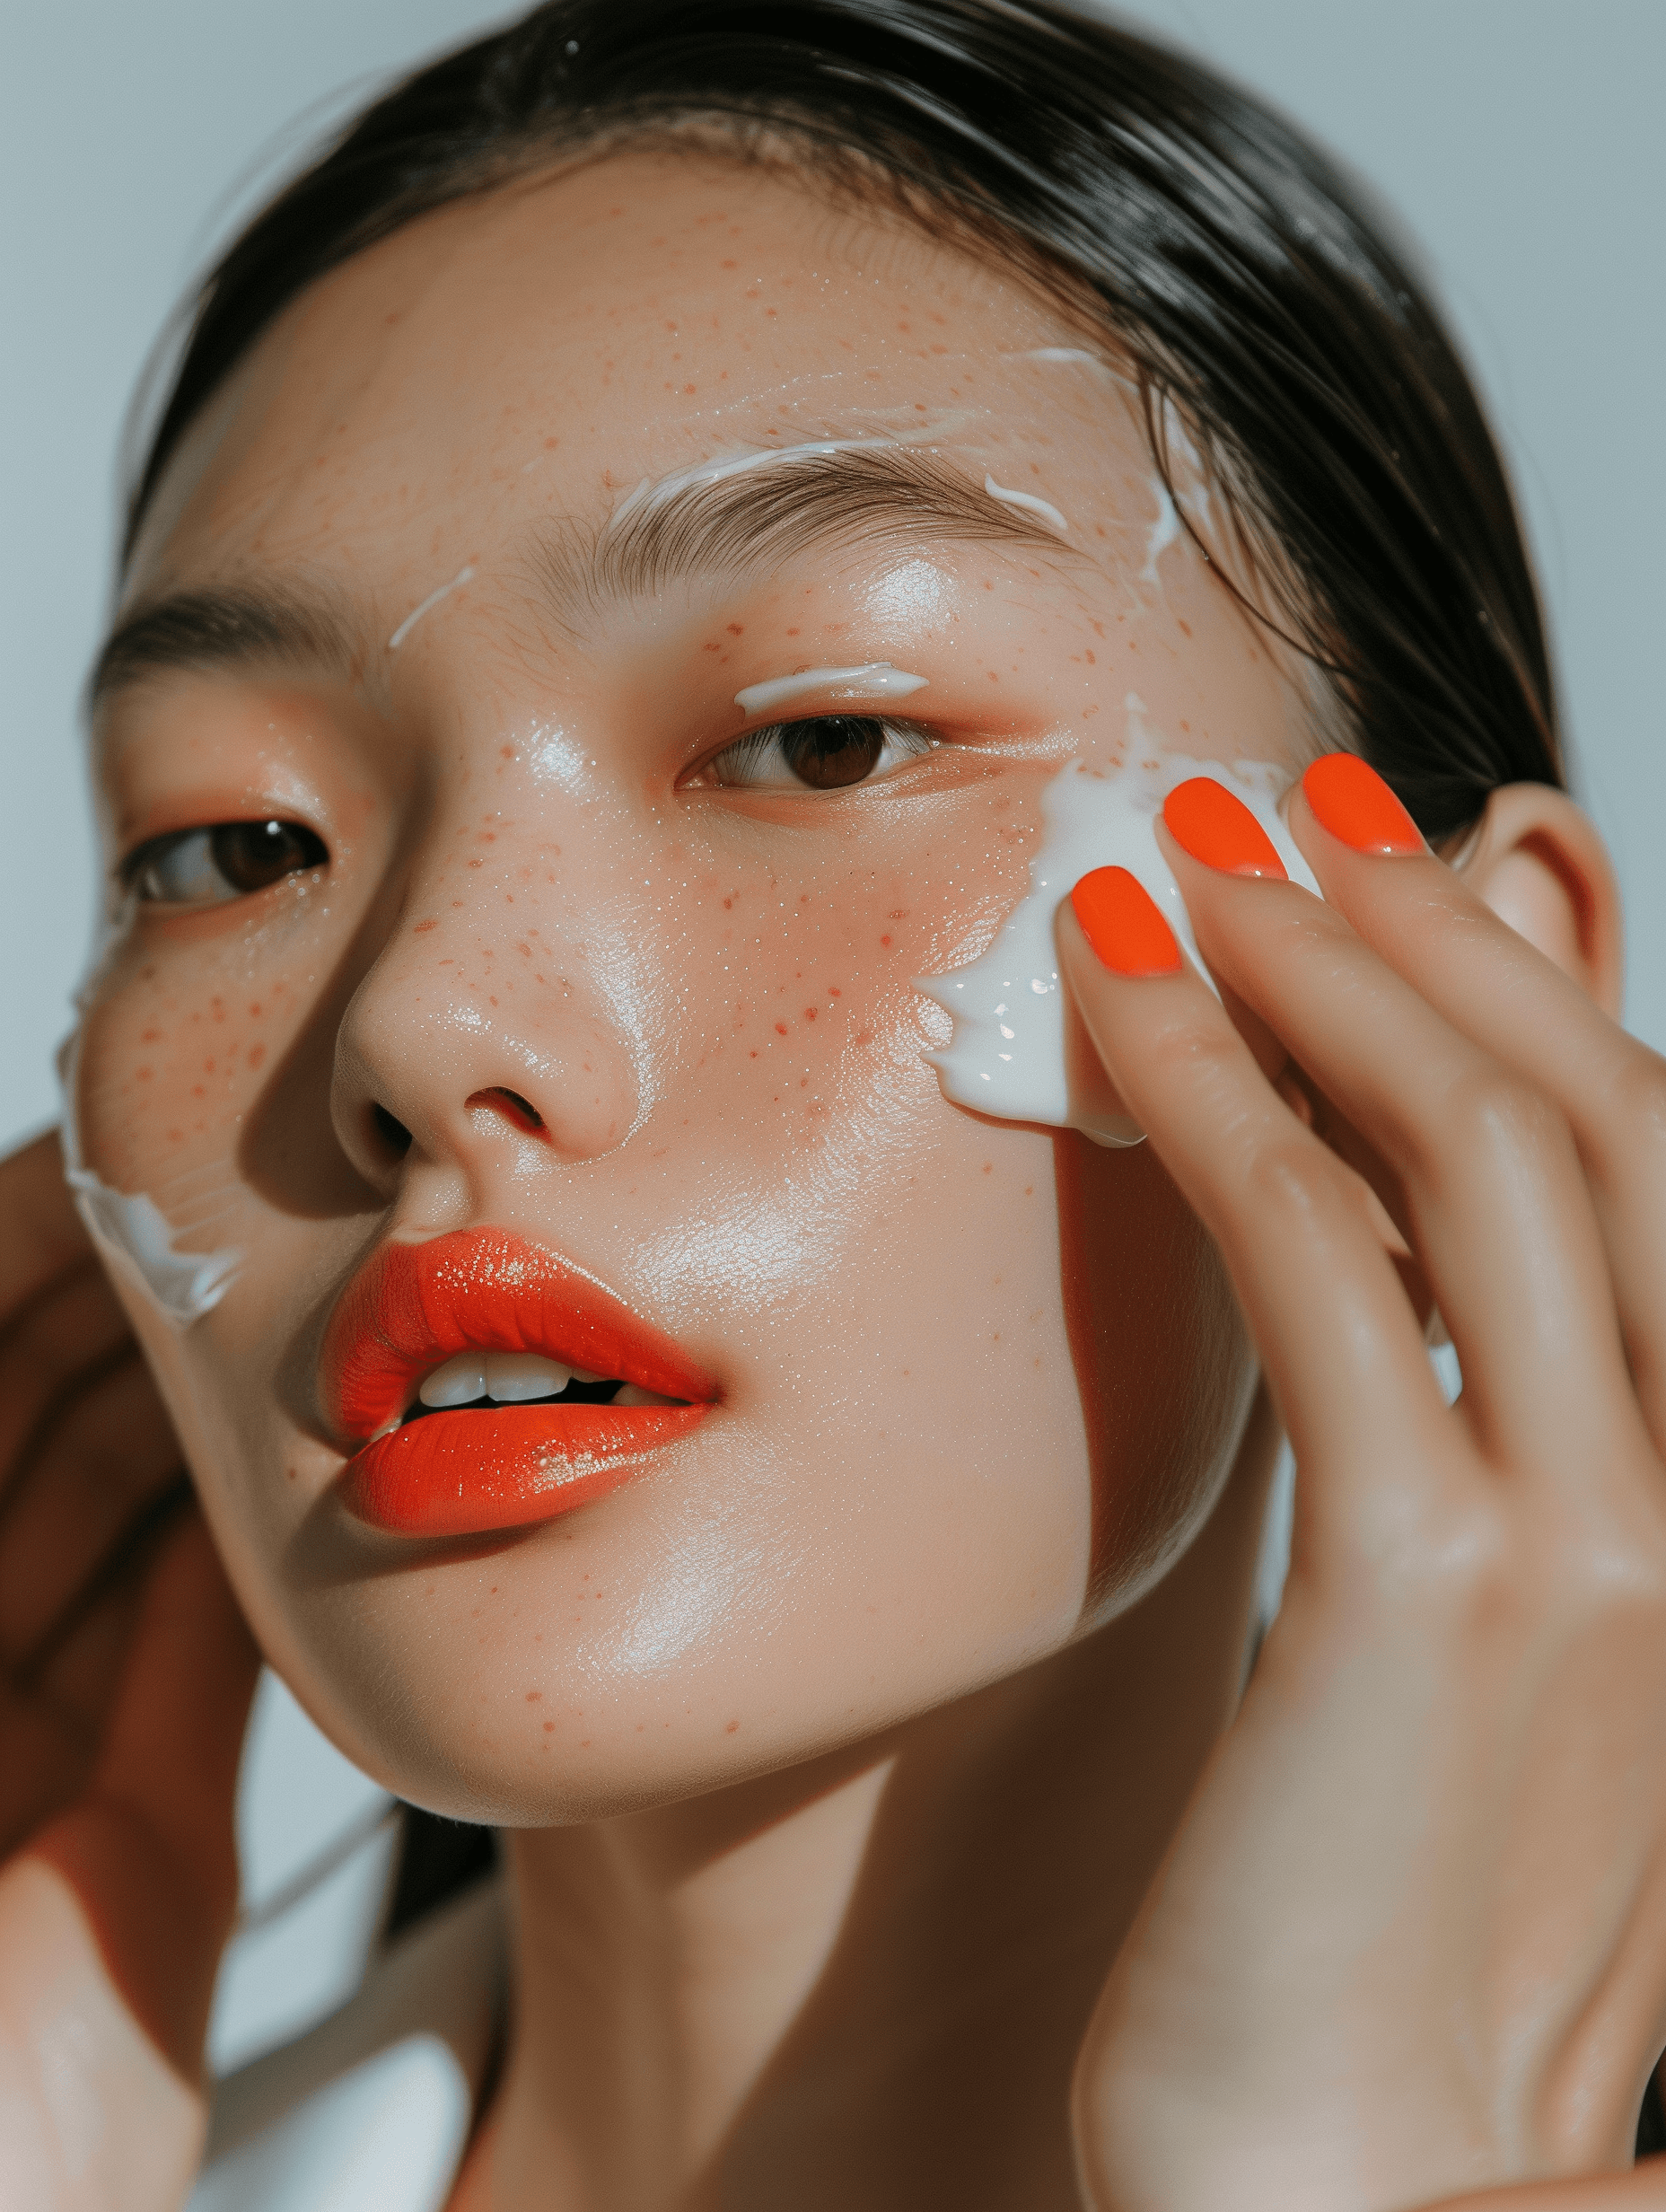
<svg viewBox="0 0 1666 2212"><path fill-rule="evenodd" d="M1100 1986L1241 1688L1270 1422L1122 1619L717 1796L511 1838L516 2033L458 2203L1069 2212Z"/></svg>

